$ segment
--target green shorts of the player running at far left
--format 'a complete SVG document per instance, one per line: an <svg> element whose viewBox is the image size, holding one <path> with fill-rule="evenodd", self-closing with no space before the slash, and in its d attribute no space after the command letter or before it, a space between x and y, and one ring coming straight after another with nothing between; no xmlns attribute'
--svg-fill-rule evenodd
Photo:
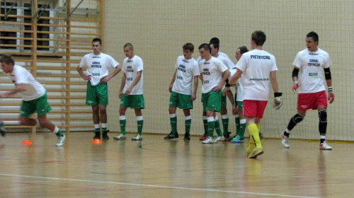
<svg viewBox="0 0 354 198"><path fill-rule="evenodd" d="M20 116L29 117L34 112L37 112L37 115L45 115L47 112L50 112L50 110L52 110L52 107L50 107L47 100L47 93L45 93L45 95L42 95L35 100L22 100Z"/></svg>

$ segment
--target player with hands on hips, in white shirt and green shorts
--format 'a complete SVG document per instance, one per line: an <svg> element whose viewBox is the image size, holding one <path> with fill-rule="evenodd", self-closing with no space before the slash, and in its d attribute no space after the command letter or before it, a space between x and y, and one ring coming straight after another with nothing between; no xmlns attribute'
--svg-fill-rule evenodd
<svg viewBox="0 0 354 198"><path fill-rule="evenodd" d="M108 54L101 52L102 41L99 38L92 40L93 53L86 54L76 70L81 78L87 81L86 105L92 107L93 126L95 128L95 136L93 139L102 138L109 139L107 133L107 112L108 105L108 81L117 75L121 67L118 62ZM108 74L109 68L115 68L112 74ZM86 69L86 74L82 69Z"/></svg>

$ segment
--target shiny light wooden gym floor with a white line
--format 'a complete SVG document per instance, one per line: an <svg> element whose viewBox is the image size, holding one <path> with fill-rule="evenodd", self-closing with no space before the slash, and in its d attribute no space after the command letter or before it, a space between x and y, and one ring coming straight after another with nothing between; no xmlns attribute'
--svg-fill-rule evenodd
<svg viewBox="0 0 354 198"><path fill-rule="evenodd" d="M263 139L264 154L247 143L203 145L143 134L142 141L93 144L72 132L63 147L51 133L0 137L0 197L353 197L353 144ZM33 142L23 146L28 139ZM248 141L248 140L246 140Z"/></svg>

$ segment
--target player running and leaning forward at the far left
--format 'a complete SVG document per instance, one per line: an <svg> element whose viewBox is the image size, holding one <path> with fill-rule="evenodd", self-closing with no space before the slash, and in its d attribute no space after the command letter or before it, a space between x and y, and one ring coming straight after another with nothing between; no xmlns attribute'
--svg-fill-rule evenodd
<svg viewBox="0 0 354 198"><path fill-rule="evenodd" d="M47 92L44 86L35 80L32 74L22 66L15 64L11 55L4 55L0 59L1 67L10 80L15 84L12 91L0 93L0 98L6 98L8 95L21 93L22 105L20 120L21 125L35 126L38 122L43 127L50 129L51 132L57 135L58 141L55 146L63 146L65 135L58 129L58 127L47 120L47 112L52 108L47 101ZM37 112L38 121L30 118L30 115Z"/></svg>

